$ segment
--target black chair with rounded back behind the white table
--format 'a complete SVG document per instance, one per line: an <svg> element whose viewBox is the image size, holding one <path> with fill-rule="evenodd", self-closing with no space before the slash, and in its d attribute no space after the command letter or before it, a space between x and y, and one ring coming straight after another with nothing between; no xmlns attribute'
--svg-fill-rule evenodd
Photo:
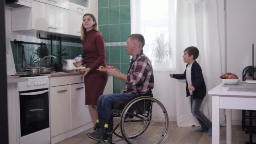
<svg viewBox="0 0 256 144"><path fill-rule="evenodd" d="M246 80L247 76L253 76L253 66L247 66L243 69L243 81ZM256 120L256 116L253 116L254 110L242 110L242 128L245 133L250 133L250 142L246 142L246 144L255 144L252 143L252 133L256 131L256 126L253 126L253 120ZM247 115L249 113L249 115ZM246 125L245 121L249 120L249 125ZM247 129L247 130L246 130Z"/></svg>

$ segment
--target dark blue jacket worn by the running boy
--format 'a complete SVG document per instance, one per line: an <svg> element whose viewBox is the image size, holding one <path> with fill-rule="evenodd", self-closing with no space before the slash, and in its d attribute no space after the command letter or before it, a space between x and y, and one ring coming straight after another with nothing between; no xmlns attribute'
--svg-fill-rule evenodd
<svg viewBox="0 0 256 144"><path fill-rule="evenodd" d="M188 64L186 65L187 69ZM184 80L186 79L186 84L187 84L187 78L186 78L186 70L184 74L174 74L173 78L179 79L179 80ZM192 86L194 86L195 91L193 91L193 98L194 99L203 99L206 94L206 86L205 86L205 80L203 79L203 73L200 65L195 61L192 64L191 67L191 82ZM187 92L187 97L190 96L188 85L186 85L186 92Z"/></svg>

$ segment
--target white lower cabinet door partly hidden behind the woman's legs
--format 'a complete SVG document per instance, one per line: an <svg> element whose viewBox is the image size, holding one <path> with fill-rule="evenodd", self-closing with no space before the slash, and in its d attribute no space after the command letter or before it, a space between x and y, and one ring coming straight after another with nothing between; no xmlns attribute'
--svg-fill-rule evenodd
<svg viewBox="0 0 256 144"><path fill-rule="evenodd" d="M91 122L88 106L85 106L84 83L70 85L71 88L71 128Z"/></svg>

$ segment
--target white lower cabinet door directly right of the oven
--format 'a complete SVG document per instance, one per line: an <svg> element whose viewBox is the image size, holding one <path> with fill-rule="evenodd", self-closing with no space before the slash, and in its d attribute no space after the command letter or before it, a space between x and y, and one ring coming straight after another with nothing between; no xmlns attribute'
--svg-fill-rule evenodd
<svg viewBox="0 0 256 144"><path fill-rule="evenodd" d="M50 88L51 137L71 130L70 87Z"/></svg>

